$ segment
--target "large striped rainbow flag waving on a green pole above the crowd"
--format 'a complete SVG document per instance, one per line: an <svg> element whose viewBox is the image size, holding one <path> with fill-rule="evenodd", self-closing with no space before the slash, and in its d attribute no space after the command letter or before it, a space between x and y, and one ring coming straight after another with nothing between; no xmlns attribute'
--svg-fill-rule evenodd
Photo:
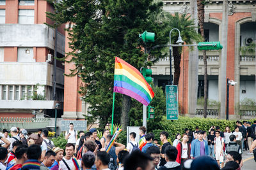
<svg viewBox="0 0 256 170"><path fill-rule="evenodd" d="M140 71L118 57L115 59L114 92L130 96L145 106L155 95Z"/></svg>

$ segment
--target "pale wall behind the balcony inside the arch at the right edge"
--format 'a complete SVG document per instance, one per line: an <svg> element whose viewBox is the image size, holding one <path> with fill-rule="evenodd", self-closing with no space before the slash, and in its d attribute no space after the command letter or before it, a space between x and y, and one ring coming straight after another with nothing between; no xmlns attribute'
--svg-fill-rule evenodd
<svg viewBox="0 0 256 170"><path fill-rule="evenodd" d="M242 90L246 90L246 92L242 93ZM243 101L244 98L256 100L255 81L240 81L240 101Z"/></svg>

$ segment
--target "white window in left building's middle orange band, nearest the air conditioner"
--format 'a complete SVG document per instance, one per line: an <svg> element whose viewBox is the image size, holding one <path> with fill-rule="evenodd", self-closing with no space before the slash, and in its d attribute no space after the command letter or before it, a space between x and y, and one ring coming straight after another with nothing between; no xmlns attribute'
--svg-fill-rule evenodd
<svg viewBox="0 0 256 170"><path fill-rule="evenodd" d="M18 62L35 62L36 60L33 57L33 48L18 47Z"/></svg>

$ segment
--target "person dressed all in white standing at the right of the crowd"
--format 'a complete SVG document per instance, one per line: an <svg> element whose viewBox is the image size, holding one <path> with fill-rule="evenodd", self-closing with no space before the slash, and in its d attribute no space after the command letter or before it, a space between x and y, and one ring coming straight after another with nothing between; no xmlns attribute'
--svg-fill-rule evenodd
<svg viewBox="0 0 256 170"><path fill-rule="evenodd" d="M220 136L220 131L215 132L215 138L214 138L214 153L215 153L215 159L218 162L218 165L221 165L221 168L224 166L224 139Z"/></svg>

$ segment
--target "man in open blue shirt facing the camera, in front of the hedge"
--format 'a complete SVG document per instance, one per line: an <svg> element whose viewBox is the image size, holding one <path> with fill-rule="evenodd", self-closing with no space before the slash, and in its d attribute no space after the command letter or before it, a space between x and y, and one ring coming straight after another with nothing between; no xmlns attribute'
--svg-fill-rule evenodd
<svg viewBox="0 0 256 170"><path fill-rule="evenodd" d="M191 143L191 153L190 157L198 157L202 155L208 155L208 145L207 141L203 139L204 137L204 132L203 131L198 131L198 139L195 139Z"/></svg>

